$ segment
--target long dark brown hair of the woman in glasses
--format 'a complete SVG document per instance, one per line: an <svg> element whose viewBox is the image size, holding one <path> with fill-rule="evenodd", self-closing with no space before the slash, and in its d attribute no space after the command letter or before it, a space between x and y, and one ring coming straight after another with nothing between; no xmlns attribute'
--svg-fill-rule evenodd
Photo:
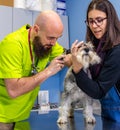
<svg viewBox="0 0 120 130"><path fill-rule="evenodd" d="M107 50L120 44L120 21L113 5L108 0L92 0L87 9L86 20L88 20L88 13L93 9L102 11L107 16L107 31L104 35L105 44L102 49ZM87 26L86 41L94 43L96 40L89 26Z"/></svg>

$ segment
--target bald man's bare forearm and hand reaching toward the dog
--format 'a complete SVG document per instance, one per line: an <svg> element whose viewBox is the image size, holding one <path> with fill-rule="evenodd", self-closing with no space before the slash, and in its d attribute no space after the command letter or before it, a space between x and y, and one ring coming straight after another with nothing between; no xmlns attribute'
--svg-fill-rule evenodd
<svg viewBox="0 0 120 130"><path fill-rule="evenodd" d="M60 71L64 67L64 61L59 59L60 57L55 58L45 70L33 76L5 79L5 85L10 97L16 98L32 91L47 78Z"/></svg>

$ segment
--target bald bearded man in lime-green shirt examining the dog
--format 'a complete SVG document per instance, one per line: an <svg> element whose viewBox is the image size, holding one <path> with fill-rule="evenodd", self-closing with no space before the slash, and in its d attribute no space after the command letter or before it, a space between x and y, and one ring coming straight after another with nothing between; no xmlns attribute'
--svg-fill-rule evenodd
<svg viewBox="0 0 120 130"><path fill-rule="evenodd" d="M57 42L62 33L59 15L44 11L33 26L27 24L1 41L0 124L13 126L27 119L40 84L67 64L60 60L64 49Z"/></svg>

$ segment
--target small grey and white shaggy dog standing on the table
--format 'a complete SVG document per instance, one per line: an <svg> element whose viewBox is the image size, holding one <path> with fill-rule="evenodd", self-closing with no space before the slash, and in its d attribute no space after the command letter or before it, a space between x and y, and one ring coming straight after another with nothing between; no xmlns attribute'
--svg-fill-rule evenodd
<svg viewBox="0 0 120 130"><path fill-rule="evenodd" d="M77 53L77 60L83 65L83 70L88 74L89 78L91 78L89 66L101 62L101 58L96 54L91 42L84 43L80 47ZM93 99L77 86L71 66L64 79L64 91L61 95L60 106L58 108L58 124L67 123L68 117L74 117L74 109L78 102L82 104L85 122L95 124Z"/></svg>

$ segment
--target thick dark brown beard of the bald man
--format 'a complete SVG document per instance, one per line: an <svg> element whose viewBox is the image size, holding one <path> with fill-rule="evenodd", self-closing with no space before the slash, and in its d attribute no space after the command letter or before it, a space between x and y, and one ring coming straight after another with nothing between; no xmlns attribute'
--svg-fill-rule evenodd
<svg viewBox="0 0 120 130"><path fill-rule="evenodd" d="M51 52L51 47L50 48L45 48L42 43L41 43L41 39L39 36L36 36L33 40L33 50L35 52L35 55L37 58L43 58L43 57L47 57L50 52Z"/></svg>

